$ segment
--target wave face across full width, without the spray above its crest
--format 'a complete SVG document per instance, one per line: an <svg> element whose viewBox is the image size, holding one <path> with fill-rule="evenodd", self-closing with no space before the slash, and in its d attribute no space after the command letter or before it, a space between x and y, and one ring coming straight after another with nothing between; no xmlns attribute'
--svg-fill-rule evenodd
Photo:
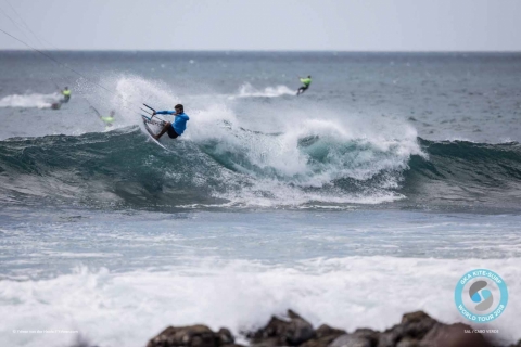
<svg viewBox="0 0 521 347"><path fill-rule="evenodd" d="M191 139L167 142L168 152L137 127L2 141L1 200L342 208L391 202L511 207L521 197L518 143L343 141L332 129L264 133L230 121L214 125L212 136L202 128Z"/></svg>

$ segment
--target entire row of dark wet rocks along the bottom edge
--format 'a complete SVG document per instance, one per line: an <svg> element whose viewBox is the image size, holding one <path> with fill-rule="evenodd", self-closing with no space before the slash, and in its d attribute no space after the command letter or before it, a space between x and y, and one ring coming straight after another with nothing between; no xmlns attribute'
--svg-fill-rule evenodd
<svg viewBox="0 0 521 347"><path fill-rule="evenodd" d="M467 332L466 332L467 331ZM327 324L314 329L304 318L288 311L287 317L271 317L266 326L242 334L251 347L492 347L490 342L467 324L444 324L423 311L403 316L399 324L384 332L358 329L347 333ZM168 326L150 339L147 347L243 347L226 327L213 332L206 325ZM506 346L501 346L506 347ZM521 340L508 347L521 347Z"/></svg>

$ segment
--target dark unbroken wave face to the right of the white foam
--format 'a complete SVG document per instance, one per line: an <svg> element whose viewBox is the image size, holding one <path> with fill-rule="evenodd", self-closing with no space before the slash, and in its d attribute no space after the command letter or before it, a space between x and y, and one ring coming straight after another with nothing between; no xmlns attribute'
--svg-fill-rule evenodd
<svg viewBox="0 0 521 347"><path fill-rule="evenodd" d="M521 145L467 141L419 142L428 159L412 156L401 193L420 204L516 208L521 197Z"/></svg>

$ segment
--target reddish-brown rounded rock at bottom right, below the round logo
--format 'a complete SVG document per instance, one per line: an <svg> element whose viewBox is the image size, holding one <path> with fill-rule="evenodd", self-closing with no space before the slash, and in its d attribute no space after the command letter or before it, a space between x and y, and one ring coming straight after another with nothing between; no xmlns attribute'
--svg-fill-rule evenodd
<svg viewBox="0 0 521 347"><path fill-rule="evenodd" d="M492 347L481 334L466 334L472 330L467 324L446 325L436 323L421 340L420 347Z"/></svg>

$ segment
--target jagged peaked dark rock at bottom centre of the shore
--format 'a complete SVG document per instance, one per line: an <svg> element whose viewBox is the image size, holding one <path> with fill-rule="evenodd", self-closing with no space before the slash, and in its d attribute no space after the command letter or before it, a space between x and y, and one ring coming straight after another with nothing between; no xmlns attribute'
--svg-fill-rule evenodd
<svg viewBox="0 0 521 347"><path fill-rule="evenodd" d="M254 346L297 346L315 336L315 331L309 322L288 310L288 320L271 317L265 327L255 333L247 334Z"/></svg>

